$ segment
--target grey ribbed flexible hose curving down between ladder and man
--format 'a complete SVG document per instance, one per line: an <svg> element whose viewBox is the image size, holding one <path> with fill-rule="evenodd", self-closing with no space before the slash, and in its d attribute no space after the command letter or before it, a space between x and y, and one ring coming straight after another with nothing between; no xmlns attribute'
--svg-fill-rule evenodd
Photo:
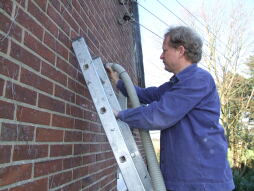
<svg viewBox="0 0 254 191"><path fill-rule="evenodd" d="M115 63L108 63L107 66L111 67L114 71L116 71L119 74L119 77L123 80L132 107L139 107L140 102L135 87L125 69L119 64ZM145 130L139 130L139 133L144 146L148 171L152 179L154 190L166 191L165 183L156 158L150 134L148 131Z"/></svg>

